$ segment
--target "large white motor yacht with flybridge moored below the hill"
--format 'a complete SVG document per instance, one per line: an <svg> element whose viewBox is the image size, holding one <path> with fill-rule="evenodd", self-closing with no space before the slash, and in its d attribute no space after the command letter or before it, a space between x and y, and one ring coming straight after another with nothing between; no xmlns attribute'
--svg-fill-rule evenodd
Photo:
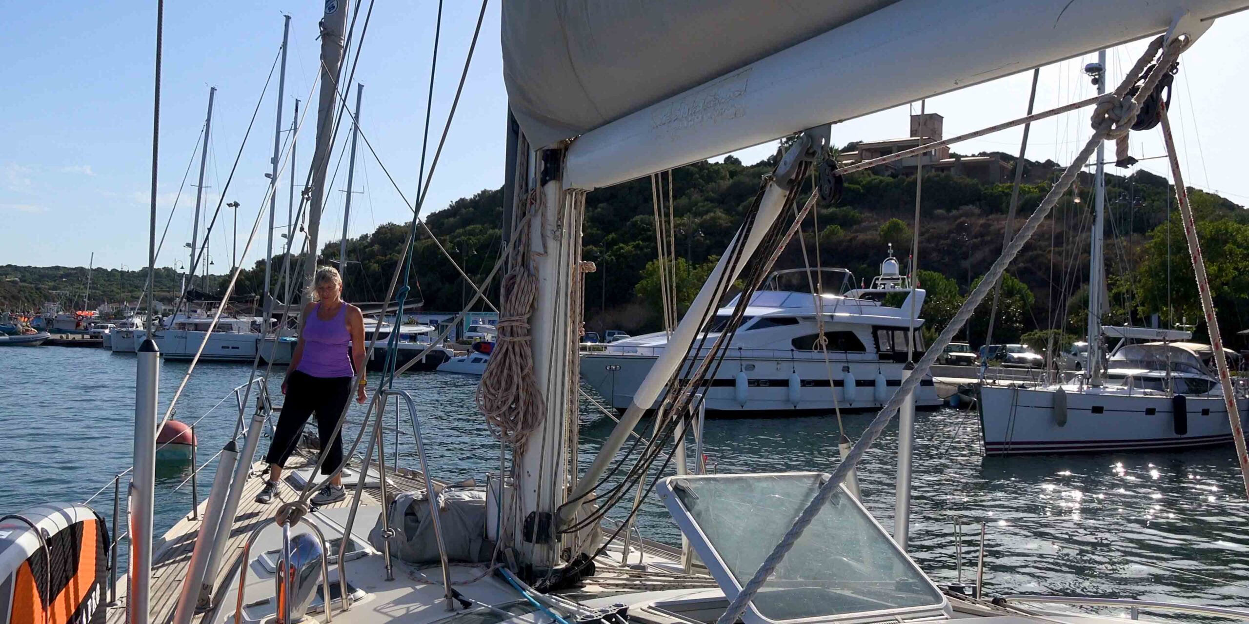
<svg viewBox="0 0 1249 624"><path fill-rule="evenodd" d="M711 351L709 341L726 333L739 298L716 312L697 338L706 346L691 349L684 369ZM912 290L892 253L866 288L857 287L844 268L776 271L751 296L736 332L729 332L703 404L713 412L752 416L879 409L902 386L907 362L924 351L923 319L912 316L923 302L924 291ZM627 409L668 348L668 336L648 333L583 351L581 377L612 407ZM662 399L656 397L648 407ZM931 377L921 382L917 404L940 404Z"/></svg>

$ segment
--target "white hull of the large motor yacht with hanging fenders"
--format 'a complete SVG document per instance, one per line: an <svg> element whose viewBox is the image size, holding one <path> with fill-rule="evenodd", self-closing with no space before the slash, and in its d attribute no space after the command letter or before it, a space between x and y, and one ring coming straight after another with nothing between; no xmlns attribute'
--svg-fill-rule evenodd
<svg viewBox="0 0 1249 624"><path fill-rule="evenodd" d="M834 408L863 412L879 409L884 401L902 383L902 367L897 362L881 362L876 356L843 359L829 354L828 364L819 359L777 359L776 357L751 358L724 357L723 364L716 372L712 387L707 391L707 409L717 412L769 413L769 412L828 412ZM622 353L582 353L581 378L592 386L608 403L617 409L627 409L633 394L642 384L656 356ZM682 364L682 371L686 369ZM854 377L854 391L847 393L843 367L849 367ZM828 371L832 368L832 389ZM738 372L747 376L746 402L738 401L736 378ZM796 373L802 383L798 402L791 401L789 376ZM877 373L883 374L888 394L883 401L876 396ZM834 394L836 393L836 394ZM662 394L651 407L658 406ZM919 387L918 407L937 407L942 402L932 379L926 379Z"/></svg>

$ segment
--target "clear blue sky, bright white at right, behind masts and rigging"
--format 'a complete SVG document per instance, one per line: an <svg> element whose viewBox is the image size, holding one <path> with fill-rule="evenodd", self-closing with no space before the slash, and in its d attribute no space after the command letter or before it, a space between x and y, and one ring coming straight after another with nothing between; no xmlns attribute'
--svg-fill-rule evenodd
<svg viewBox="0 0 1249 624"><path fill-rule="evenodd" d="M361 129L408 197L415 195L421 130L430 79L433 39L432 0L378 2L361 55L356 81L365 85ZM480 5L446 2L432 106L431 152L462 69ZM205 210L220 197L265 77L281 44L282 12L292 16L284 126L299 97L306 106L318 54L316 1L167 2L161 91L161 155L159 222L164 226L177 198L159 265L186 262L190 240L196 160L185 187L182 175L204 124L209 86L217 87L212 120ZM155 2L21 2L5 7L0 55L9 94L0 115L0 265L86 265L134 268L146 262L147 193L151 162L151 90ZM362 19L361 12L361 19ZM1243 147L1249 121L1234 112L1245 99L1249 49L1244 14L1224 17L1185 54L1177 80L1173 110L1180 157L1190 186L1215 190L1238 203L1249 203ZM1129 44L1112 50L1112 79L1142 49ZM1079 69L1090 57L1042 70L1037 109L1043 110L1093 94ZM1020 116L1030 76L1020 75L929 100L928 111L945 116L945 134L960 134ZM239 201L239 247L265 197L272 151L276 75L261 105L226 201ZM315 100L315 95L312 97ZM352 95L353 101L353 95ZM1230 110L1229 110L1230 107ZM907 132L908 106L891 109L834 127L834 142L887 139ZM913 107L918 111L918 104ZM491 2L477 54L465 87L442 162L435 173L426 212L457 197L498 187L503 165L506 92L498 44L498 2ZM300 135L296 171L302 182L311 155L315 111ZM1033 126L1029 158L1067 162L1087 140L1087 112L1055 117ZM341 132L340 141L346 140ZM1018 150L1019 131L1005 131L955 146ZM1158 156L1157 131L1133 135L1135 156ZM772 146L738 155L757 161ZM337 152L336 152L337 154ZM331 162L331 173L337 160ZM1165 160L1144 161L1164 173ZM1112 171L1115 171L1112 168ZM279 226L285 225L286 183L279 193ZM341 235L346 187L343 161L327 192L322 238ZM408 217L378 163L361 146L348 233ZM642 207L649 210L649 207ZM226 210L226 208L222 208ZM222 215L211 240L214 272L230 266L232 212ZM281 241L281 238L279 238ZM275 248L280 242L275 242ZM245 262L262 257L264 227Z"/></svg>

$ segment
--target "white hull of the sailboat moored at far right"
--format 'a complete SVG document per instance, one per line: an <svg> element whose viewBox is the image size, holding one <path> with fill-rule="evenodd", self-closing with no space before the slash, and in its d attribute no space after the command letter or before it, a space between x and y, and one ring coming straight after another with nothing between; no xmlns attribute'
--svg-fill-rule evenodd
<svg viewBox="0 0 1249 624"><path fill-rule="evenodd" d="M1177 424L1172 397L1067 392L1067 423L1058 424L1049 388L980 387L980 432L989 456L1097 453L1208 447L1232 442L1220 396L1185 397L1187 423ZM1239 399L1244 421L1249 399ZM1187 426L1187 427L1185 427ZM1183 433L1177 433L1178 431Z"/></svg>

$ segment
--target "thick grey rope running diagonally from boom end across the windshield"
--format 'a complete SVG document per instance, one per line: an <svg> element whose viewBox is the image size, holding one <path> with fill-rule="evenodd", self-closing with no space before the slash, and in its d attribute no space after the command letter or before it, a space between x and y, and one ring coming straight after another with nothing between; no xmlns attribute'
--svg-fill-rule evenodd
<svg viewBox="0 0 1249 624"><path fill-rule="evenodd" d="M945 349L945 346L950 343L954 334L972 317L972 313L975 312L975 307L984 301L984 297L989 293L993 283L1002 277L1002 273L1005 272L1010 261L1019 255L1023 246L1029 238L1032 238L1032 235L1054 207L1054 203L1058 202L1063 193L1067 192L1067 188L1070 187L1072 182L1075 181L1075 176L1079 173L1084 163L1088 162L1098 145L1107 139L1117 139L1119 132L1127 132L1132 129L1132 124L1135 122L1135 114L1139 110L1139 102L1128 104L1122 100L1125 99L1128 89L1137 82L1142 71L1144 71L1145 66L1153 60L1154 55L1157 55L1158 50L1162 47L1163 37L1159 36L1149 44L1145 52L1140 56L1132 70L1128 71L1128 75L1114 90L1114 92L1098 99L1098 106L1095 107L1092 119L1093 136L1089 137L1088 144L1083 150L1080 150L1072 163L1068 165L1067 170L1063 171L1062 177L1059 177L1058 182L1049 190L1049 193L1045 195L1040 206L1038 206L1037 210L1028 217L1028 221L1024 222L1019 233L1010 241L1010 245L1002 251L1002 256L998 257L998 260L989 268L984 280L980 280L980 283L967 297L967 301L963 302L963 306L954 314L954 318L950 319L949 324L947 324L944 329L942 329L940 334L928 347L924 356L919 358L919 363L916 366L912 374L903 379L898 391L894 392L888 403L881 408L881 412L863 432L863 436L854 444L854 448L852 448L846 456L846 459L837 466L833 474L819 487L819 490L811 499L811 502L807 503L807 507L789 527L789 530L786 532L781 543L773 548L772 553L768 554L763 563L759 564L758 570L756 570L751 577L751 580L747 582L737 597L733 598L733 602L729 603L728 609L726 609L723 615L719 617L717 624L733 624L738 615L746 610L747 604L749 604L754 595L758 594L767 578L776 572L777 567L781 565L781 562L784 560L786 554L789 553L793 545L798 542L798 538L802 537L802 533L811 525L811 523L816 519L816 515L819 514L824 505L828 504L828 500L832 499L833 494L838 492L842 483L846 482L847 474L854 469L872 443L881 437L884 427L893 419L893 414L898 412L898 408L902 406L906 397L911 392L914 392L916 387L919 386L919 381L928 374L933 363L937 361L937 356ZM1183 49L1184 41L1179 37L1174 37L1170 42L1168 42L1162 60L1159 60L1159 62L1154 66L1154 70L1150 71L1149 77L1145 79L1145 84L1138 92L1137 97L1144 99L1153 91L1154 85L1158 84L1162 75L1165 72L1158 67L1169 67ZM1132 101L1135 101L1135 99L1132 99ZM1112 135L1112 132L1114 132L1114 135Z"/></svg>

